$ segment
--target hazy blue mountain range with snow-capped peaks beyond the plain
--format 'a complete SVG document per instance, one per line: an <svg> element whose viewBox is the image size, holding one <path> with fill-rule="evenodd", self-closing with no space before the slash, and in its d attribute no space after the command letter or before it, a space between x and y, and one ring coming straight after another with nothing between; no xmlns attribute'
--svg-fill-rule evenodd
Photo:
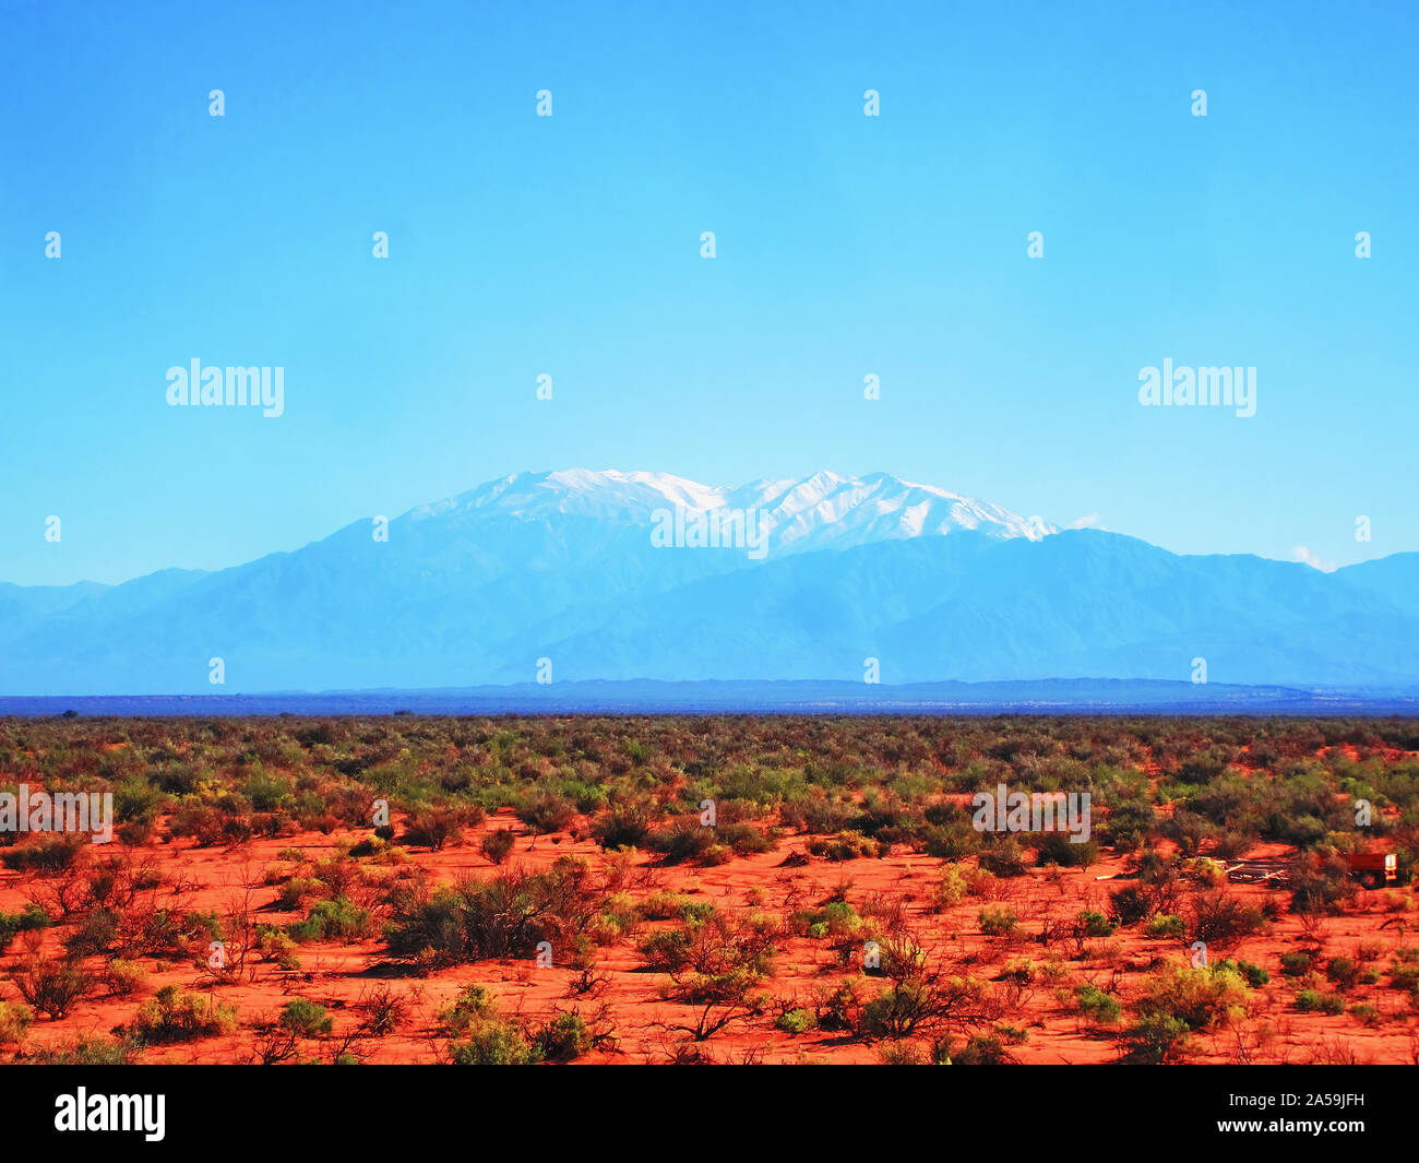
<svg viewBox="0 0 1419 1163"><path fill-rule="evenodd" d="M1419 554L1324 574L884 473L711 488L578 469L228 569L0 585L0 711L207 696L221 713L261 692L328 711L1412 713Z"/></svg>

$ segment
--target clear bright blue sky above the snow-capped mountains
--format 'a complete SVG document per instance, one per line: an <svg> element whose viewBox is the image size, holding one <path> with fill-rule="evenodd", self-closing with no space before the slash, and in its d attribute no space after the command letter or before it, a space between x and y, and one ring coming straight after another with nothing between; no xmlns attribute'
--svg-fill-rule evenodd
<svg viewBox="0 0 1419 1163"><path fill-rule="evenodd" d="M595 7L0 3L0 581L570 466L1419 550L1412 6ZM285 415L167 408L194 356ZM1164 358L1257 415L1141 408Z"/></svg>

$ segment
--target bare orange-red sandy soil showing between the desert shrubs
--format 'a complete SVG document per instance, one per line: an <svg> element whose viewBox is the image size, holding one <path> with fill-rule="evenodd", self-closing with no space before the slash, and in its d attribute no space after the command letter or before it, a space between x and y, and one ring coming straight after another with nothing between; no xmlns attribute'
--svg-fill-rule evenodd
<svg viewBox="0 0 1419 1163"><path fill-rule="evenodd" d="M555 835L531 839L522 825L509 814L490 818L482 828L468 829L464 842L438 852L407 849L410 859L430 870L436 882L453 880L461 873L492 875L494 866L480 852L477 839L485 828L511 828L519 839L508 858L508 865L531 870L551 865L558 856L575 853L586 858L593 869L604 866L604 856L590 839ZM224 914L241 892L241 885L260 882L268 868L285 873L295 865L281 861L278 852L297 848L307 859L324 859L336 853L336 843L346 845L365 834L318 832L277 839L251 841L237 848L194 848L189 841L172 843L150 842L135 849L133 856L158 861L167 878L167 890L183 882L189 890L179 896L184 910L214 910ZM1108 1062L1118 1058L1118 1045L1105 1032L1091 1032L1070 1007L1056 997L1063 985L1069 994L1087 983L1128 1001L1139 994L1145 978L1155 971L1159 959L1183 960L1189 956L1183 941L1151 940L1134 926L1112 937L1091 939L1083 959L1074 957L1073 947L1056 944L1046 950L1032 940L1047 919L1070 919L1081 909L1105 912L1110 892L1117 888L1111 878L1124 870L1122 858L1104 856L1087 870L1039 869L1027 876L998 880L995 896L965 897L959 905L935 913L929 907L931 889L939 876L939 859L897 849L885 859L856 859L829 862L812 858L803 866L782 866L790 853L805 853L806 838L793 836L779 846L756 856L736 858L715 868L691 865L660 866L654 855L641 853L627 880L626 890L640 899L654 890L673 890L714 902L721 909L756 907L771 914L788 916L795 909L816 906L836 889L847 886L847 899L861 907L873 895L900 897L907 902L908 920L918 930L922 944L932 957L954 974L971 974L988 980L1000 976L1005 963L1013 957L1029 957L1037 963L1050 959L1063 961L1063 976L1054 984L1037 983L1026 987L1020 997L1012 997L1002 1024L1023 1030L1025 1041L1010 1047L1022 1062ZM121 851L115 842L106 852ZM1263 845L1253 856L1286 855L1281 845ZM369 865L372 873L386 873L386 866ZM30 875L0 870L0 909L14 912L33 895L37 882ZM1261 886L1235 885L1239 896L1260 905L1267 896L1287 899L1288 895ZM261 883L255 902L258 919L271 924L285 924L298 914L270 910L277 899L278 885ZM982 906L1006 905L1020 917L1020 936L990 939L981 933L978 914ZM1345 916L1328 917L1321 923L1327 957L1351 956L1361 941L1378 941L1384 951L1372 964L1385 970L1392 951L1405 940L1403 912L1398 905L1410 903L1408 890L1361 892ZM1388 922L1388 924L1385 924ZM657 924L647 922L641 934ZM1384 929L1381 926L1385 926ZM43 951L57 953L65 929L55 926L44 934ZM23 936L23 934L21 934ZM1264 1062L1413 1062L1419 1054L1419 1018L1405 993L1381 984L1357 985L1345 997L1375 1005L1381 1021L1366 1027L1351 1014L1325 1015L1297 1012L1296 983L1283 977L1279 956L1301 947L1301 919L1283 914L1264 936L1246 939L1212 956L1249 960L1263 966L1271 981L1253 990L1247 1020L1237 1028L1216 1034L1195 1034L1188 1048L1188 1061L1237 1061L1239 1038L1250 1047L1250 1058ZM394 1034L383 1038L363 1038L355 1047L369 1062L431 1062L438 1061L446 1039L436 1031L436 1015L446 1008L461 987L468 983L491 985L505 1017L546 1018L553 1008L578 1008L590 1014L602 1004L609 1007L614 1028L614 1048L583 1055L583 1062L654 1062L667 1061L673 1048L685 1035L675 1027L692 1021L691 1007L666 1001L660 995L664 978L641 966L636 953L640 937L633 936L599 950L597 970L606 974L604 990L595 1000L568 997L568 985L578 974L566 967L539 968L531 961L480 961L424 977L412 976L407 968L392 964L380 939L360 941L326 941L299 946L299 970L282 971L271 964L255 968L255 980L213 987L211 980L192 960L155 961L143 959L150 970L143 988L129 998L89 997L60 1021L37 1017L24 1045L27 1052L41 1047L71 1044L77 1035L108 1037L132 1020L143 998L160 985L175 983L183 988L213 988L226 1003L238 1007L238 1031L227 1037L211 1037L179 1045L149 1047L139 1055L148 1062L241 1062L253 1052L255 1032L253 1022L271 1020L294 997L305 997L329 1007L335 1018L335 1035L352 1028L356 1018L350 1005L376 985L385 984L403 993L412 1003L410 1020ZM775 971L765 988L778 1000L796 1000L812 1010L815 988L829 988L853 977L856 967L846 964L827 941L809 937L783 936L778 944ZM14 963L26 956L17 940L9 954L0 959L0 1000L18 1000L9 977ZM9 964L6 964L9 963ZM868 980L870 988L881 983ZM1002 985L1003 988L1003 985ZM1330 988L1330 987L1327 987ZM746 1056L765 1062L876 1062L880 1047L851 1039L844 1034L810 1031L790 1035L773 1025L776 1007L738 1021L702 1045L715 1061L742 1061ZM1240 1034L1239 1034L1240 1031ZM13 1049L13 1048L11 1048ZM312 1044L311 1055L319 1052Z"/></svg>

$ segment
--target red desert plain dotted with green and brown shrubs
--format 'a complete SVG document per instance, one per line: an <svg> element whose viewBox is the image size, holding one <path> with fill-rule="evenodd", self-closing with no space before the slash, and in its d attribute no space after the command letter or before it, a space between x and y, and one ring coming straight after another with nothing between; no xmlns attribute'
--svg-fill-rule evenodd
<svg viewBox="0 0 1419 1163"><path fill-rule="evenodd" d="M114 832L0 834L0 1059L1415 1062L1416 753L1412 720L3 720L0 792L111 792ZM979 831L1000 785L1087 794L1088 838Z"/></svg>

